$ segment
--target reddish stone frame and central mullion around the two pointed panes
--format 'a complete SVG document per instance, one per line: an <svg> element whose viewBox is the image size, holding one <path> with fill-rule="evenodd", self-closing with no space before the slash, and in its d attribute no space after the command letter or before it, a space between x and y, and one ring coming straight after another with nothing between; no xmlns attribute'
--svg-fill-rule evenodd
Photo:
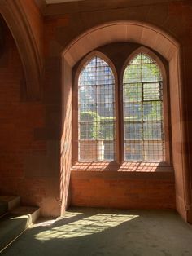
<svg viewBox="0 0 192 256"><path fill-rule="evenodd" d="M124 162L128 165L133 164L133 161L124 161L124 112L123 112L123 77L124 70L127 68L131 60L134 59L139 53L144 53L148 55L155 63L159 66L159 70L162 75L163 82L163 111L164 111L164 148L165 148L165 161L159 162L159 166L171 166L172 165L172 155L171 155L171 129L170 125L170 106L169 106L169 90L168 90L168 68L159 56L155 54L154 51L146 48L145 46L140 46L137 50L133 51L128 58L124 61L124 64L119 73L119 77L115 68L115 64L100 51L92 51L83 58L78 64L76 70L73 73L73 86L72 86L72 166L75 166L78 162L86 163L99 163L107 162L111 166L122 166ZM78 159L78 79L84 65L98 56L103 59L111 68L114 79L115 79L115 139L116 139L116 160L115 161L80 161ZM135 161L137 163L138 161ZM140 161L139 161L140 162ZM145 162L146 163L146 162ZM150 162L149 162L150 163Z"/></svg>

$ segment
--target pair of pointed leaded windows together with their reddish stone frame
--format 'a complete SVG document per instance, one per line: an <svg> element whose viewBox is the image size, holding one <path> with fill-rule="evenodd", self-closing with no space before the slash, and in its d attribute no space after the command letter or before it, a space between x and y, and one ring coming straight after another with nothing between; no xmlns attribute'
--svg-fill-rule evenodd
<svg viewBox="0 0 192 256"><path fill-rule="evenodd" d="M90 55L76 71L72 161L170 164L164 64L145 47L117 71L102 53Z"/></svg>

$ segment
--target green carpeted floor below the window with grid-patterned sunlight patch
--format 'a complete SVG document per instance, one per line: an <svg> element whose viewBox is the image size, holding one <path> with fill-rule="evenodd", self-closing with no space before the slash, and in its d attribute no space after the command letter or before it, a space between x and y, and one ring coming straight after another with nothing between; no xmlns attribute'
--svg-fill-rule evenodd
<svg viewBox="0 0 192 256"><path fill-rule="evenodd" d="M174 211L73 209L28 229L2 255L191 255Z"/></svg>

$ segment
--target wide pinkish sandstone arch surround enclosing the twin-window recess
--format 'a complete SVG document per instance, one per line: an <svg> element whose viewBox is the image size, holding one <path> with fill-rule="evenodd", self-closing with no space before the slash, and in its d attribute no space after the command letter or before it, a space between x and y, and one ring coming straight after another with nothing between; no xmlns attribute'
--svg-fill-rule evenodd
<svg viewBox="0 0 192 256"><path fill-rule="evenodd" d="M111 42L135 42L162 55L169 64L169 90L172 129L172 166L175 171L177 211L185 220L185 205L190 205L187 190L187 170L183 148L185 126L183 124L181 46L167 33L150 24L119 21L103 24L81 34L62 54L63 123L61 140L61 198L62 210L68 205L68 188L72 160L72 68L90 51Z"/></svg>

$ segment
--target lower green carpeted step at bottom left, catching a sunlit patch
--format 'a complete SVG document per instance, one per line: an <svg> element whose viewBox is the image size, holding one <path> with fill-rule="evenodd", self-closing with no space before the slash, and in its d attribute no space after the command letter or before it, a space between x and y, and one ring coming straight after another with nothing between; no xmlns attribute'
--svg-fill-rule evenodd
<svg viewBox="0 0 192 256"><path fill-rule="evenodd" d="M0 219L0 254L39 216L37 207L19 206Z"/></svg>

